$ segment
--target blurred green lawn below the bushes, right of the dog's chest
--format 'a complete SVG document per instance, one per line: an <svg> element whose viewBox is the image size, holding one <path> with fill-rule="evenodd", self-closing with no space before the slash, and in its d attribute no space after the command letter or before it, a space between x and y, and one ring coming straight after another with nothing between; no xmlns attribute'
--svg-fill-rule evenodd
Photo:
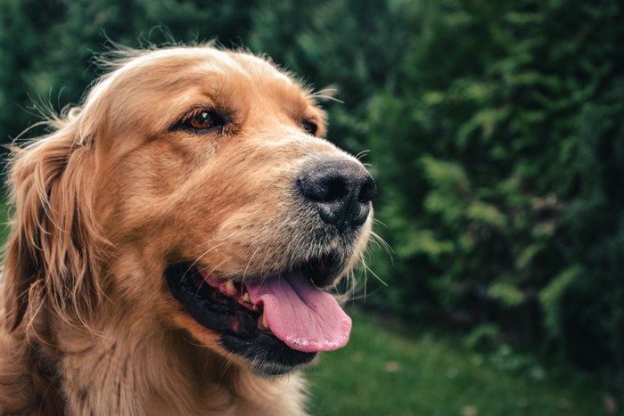
<svg viewBox="0 0 624 416"><path fill-rule="evenodd" d="M600 390L570 370L508 350L477 354L453 336L409 333L348 312L349 345L308 371L314 415L606 414Z"/></svg>

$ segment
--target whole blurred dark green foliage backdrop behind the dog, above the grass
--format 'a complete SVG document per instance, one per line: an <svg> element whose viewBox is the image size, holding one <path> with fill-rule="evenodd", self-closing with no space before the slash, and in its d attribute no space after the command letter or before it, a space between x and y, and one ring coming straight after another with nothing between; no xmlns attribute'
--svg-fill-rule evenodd
<svg viewBox="0 0 624 416"><path fill-rule="evenodd" d="M624 4L2 0L0 138L78 103L106 37L217 38L313 83L379 184L360 301L475 350L555 357L624 397ZM105 36L104 36L105 35Z"/></svg>

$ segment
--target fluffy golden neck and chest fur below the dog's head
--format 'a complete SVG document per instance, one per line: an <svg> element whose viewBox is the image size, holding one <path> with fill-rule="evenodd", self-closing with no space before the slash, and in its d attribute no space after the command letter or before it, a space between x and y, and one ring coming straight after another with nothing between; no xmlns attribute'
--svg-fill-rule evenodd
<svg viewBox="0 0 624 416"><path fill-rule="evenodd" d="M28 330L0 330L0 413L304 413L299 376L261 379L179 330L107 312L94 330L45 308Z"/></svg>

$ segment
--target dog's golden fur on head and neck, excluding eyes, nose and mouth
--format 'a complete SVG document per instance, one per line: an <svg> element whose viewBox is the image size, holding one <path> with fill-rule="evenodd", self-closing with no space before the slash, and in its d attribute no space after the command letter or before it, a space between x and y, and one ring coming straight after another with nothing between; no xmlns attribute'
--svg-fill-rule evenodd
<svg viewBox="0 0 624 416"><path fill-rule="evenodd" d="M192 258L244 277L314 256L302 252L310 224L284 195L304 160L355 159L321 138L314 95L265 59L195 46L108 64L83 104L10 162L0 413L305 413L300 371L257 375L185 314L163 271ZM172 128L197 108L232 121ZM337 280L371 221L344 244Z"/></svg>

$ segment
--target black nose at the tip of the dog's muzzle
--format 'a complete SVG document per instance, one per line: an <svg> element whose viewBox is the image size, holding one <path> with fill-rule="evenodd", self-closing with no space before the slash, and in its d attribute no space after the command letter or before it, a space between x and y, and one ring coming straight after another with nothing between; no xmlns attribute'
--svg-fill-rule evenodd
<svg viewBox="0 0 624 416"><path fill-rule="evenodd" d="M321 219L343 232L365 223L377 193L373 177L354 160L324 159L308 163L297 178L306 199Z"/></svg>

